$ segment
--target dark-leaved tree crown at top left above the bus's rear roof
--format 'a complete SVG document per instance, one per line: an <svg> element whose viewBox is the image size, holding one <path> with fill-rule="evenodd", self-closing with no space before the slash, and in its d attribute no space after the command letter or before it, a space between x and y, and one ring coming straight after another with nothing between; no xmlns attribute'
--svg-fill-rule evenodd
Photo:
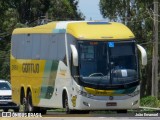
<svg viewBox="0 0 160 120"><path fill-rule="evenodd" d="M5 0L9 8L17 12L20 23L30 23L37 17L45 15L51 0Z"/></svg>

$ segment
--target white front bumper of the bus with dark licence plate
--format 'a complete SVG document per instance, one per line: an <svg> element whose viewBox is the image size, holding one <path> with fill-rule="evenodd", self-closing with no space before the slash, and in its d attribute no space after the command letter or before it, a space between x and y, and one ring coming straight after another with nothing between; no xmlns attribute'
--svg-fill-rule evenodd
<svg viewBox="0 0 160 120"><path fill-rule="evenodd" d="M113 96L114 97L114 96ZM120 96L119 96L120 97ZM83 96L78 96L76 105L72 109L77 110L124 110L138 109L140 95L121 100L96 100Z"/></svg>

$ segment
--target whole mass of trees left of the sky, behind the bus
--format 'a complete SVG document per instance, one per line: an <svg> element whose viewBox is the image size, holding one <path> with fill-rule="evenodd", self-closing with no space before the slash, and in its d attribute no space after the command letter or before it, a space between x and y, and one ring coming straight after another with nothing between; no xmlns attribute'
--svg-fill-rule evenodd
<svg viewBox="0 0 160 120"><path fill-rule="evenodd" d="M54 21L84 19L78 0L0 0L0 15L0 79L7 80L11 33L15 28L38 25L44 16Z"/></svg>

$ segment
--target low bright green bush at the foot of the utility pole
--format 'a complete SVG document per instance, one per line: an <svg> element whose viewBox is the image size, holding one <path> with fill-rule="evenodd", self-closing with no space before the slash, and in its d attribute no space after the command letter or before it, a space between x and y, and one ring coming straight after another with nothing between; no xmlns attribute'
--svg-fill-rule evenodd
<svg viewBox="0 0 160 120"><path fill-rule="evenodd" d="M156 97L147 96L141 99L140 105L145 107L160 107L160 101Z"/></svg>

